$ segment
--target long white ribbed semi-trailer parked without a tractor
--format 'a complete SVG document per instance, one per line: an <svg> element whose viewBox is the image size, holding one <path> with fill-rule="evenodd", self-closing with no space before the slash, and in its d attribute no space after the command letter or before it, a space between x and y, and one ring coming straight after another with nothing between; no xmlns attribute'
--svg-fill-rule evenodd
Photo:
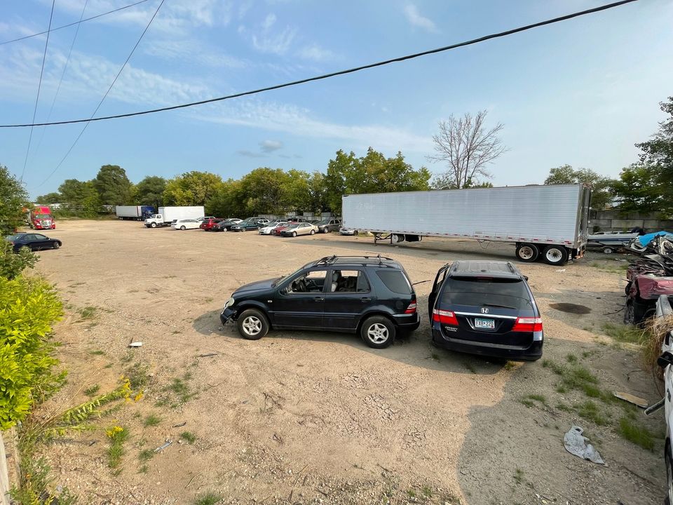
<svg viewBox="0 0 673 505"><path fill-rule="evenodd" d="M522 262L565 264L587 244L591 190L586 184L351 194L344 228L370 231L374 243L423 236L512 242Z"/></svg>

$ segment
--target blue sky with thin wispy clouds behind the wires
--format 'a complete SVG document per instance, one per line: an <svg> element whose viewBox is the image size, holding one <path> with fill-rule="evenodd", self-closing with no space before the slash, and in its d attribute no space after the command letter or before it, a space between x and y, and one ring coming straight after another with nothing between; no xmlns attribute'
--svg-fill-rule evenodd
<svg viewBox="0 0 673 505"><path fill-rule="evenodd" d="M89 0L85 18L132 3ZM97 115L203 100L445 46L606 2L589 0L165 0ZM39 121L92 114L159 0L50 35ZM56 0L53 26L79 20L84 0ZM46 29L50 0L4 0L0 41ZM47 179L80 125L35 128L23 177L32 196L100 166L133 182L208 170L238 178L259 166L325 171L338 149L367 147L429 163L437 123L487 109L509 151L494 184L542 182L569 163L616 176L673 95L673 3L611 11L358 74L254 97L91 123ZM0 46L1 123L32 119L46 36ZM21 175L29 129L0 130L0 163Z"/></svg>

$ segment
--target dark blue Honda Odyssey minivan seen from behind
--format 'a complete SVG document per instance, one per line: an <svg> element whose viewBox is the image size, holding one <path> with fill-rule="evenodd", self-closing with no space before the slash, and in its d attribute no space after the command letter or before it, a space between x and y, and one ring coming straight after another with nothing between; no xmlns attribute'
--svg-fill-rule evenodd
<svg viewBox="0 0 673 505"><path fill-rule="evenodd" d="M541 358L542 318L526 281L510 262L444 265L428 297L433 343L484 356Z"/></svg>

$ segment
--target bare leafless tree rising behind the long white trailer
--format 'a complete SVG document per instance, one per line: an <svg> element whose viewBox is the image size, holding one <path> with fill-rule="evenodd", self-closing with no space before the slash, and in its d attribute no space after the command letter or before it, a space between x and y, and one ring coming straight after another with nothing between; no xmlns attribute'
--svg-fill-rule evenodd
<svg viewBox="0 0 673 505"><path fill-rule="evenodd" d="M435 187L461 189L477 184L493 175L487 165L507 151L499 134L503 124L491 129L485 126L487 112L477 112L475 116L465 114L449 116L440 122L440 133L433 135L435 154L427 156L428 161L446 163L446 173L437 177Z"/></svg>

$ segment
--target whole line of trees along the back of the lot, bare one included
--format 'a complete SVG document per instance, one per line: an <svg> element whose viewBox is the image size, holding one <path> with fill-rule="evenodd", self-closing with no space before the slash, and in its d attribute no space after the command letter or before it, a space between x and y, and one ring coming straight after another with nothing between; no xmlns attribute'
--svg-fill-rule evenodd
<svg viewBox="0 0 673 505"><path fill-rule="evenodd" d="M592 207L616 208L624 213L673 215L673 97L660 103L666 118L646 142L635 144L639 159L612 179L590 168L569 165L552 168L544 184L585 182L593 187ZM100 168L95 179L68 179L55 193L37 203L63 203L65 213L91 217L101 206L205 206L208 215L282 215L287 212L341 213L341 195L428 189L492 187L487 170L507 150L498 137L503 125L487 128L486 112L451 116L440 122L433 137L435 154L428 161L444 163L446 170L432 177L425 167L414 169L402 153L386 158L371 147L365 156L338 151L322 173L260 167L240 177L223 180L210 172L191 171L170 180L148 176L137 184L116 165Z"/></svg>

